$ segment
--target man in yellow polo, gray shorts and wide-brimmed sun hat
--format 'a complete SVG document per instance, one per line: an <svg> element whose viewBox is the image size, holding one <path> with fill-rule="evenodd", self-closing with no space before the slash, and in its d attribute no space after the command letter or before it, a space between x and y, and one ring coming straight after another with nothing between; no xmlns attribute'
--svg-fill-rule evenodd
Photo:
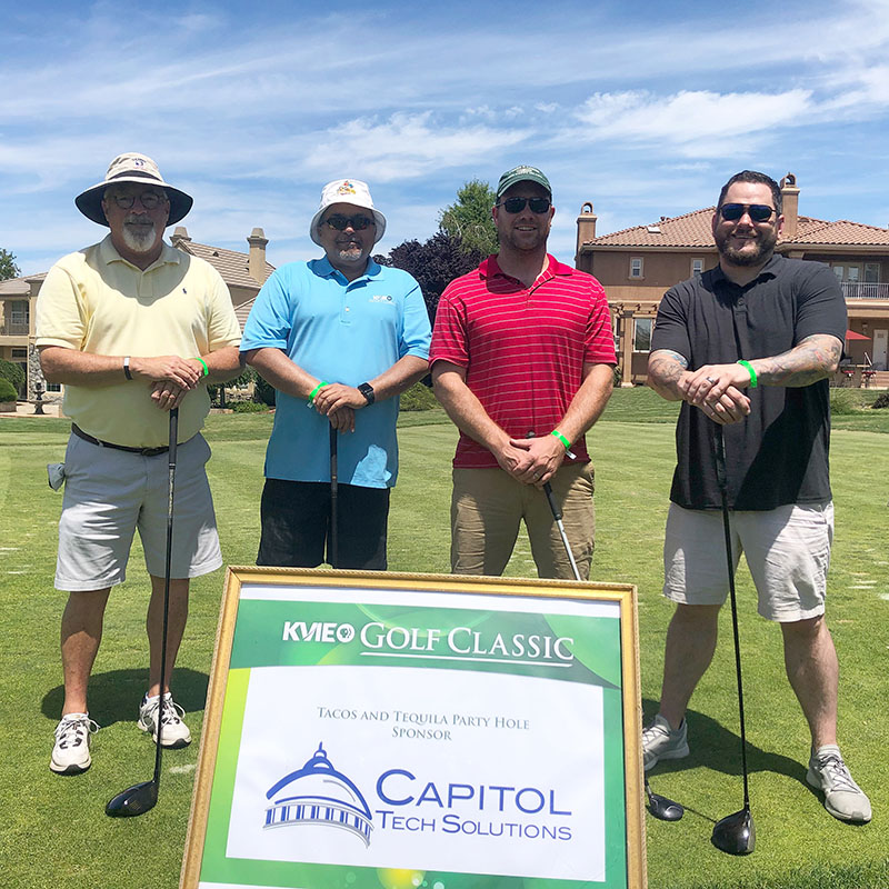
<svg viewBox="0 0 889 889"><path fill-rule="evenodd" d="M73 420L64 458L56 587L69 592L62 616L64 706L50 768L89 768L98 729L87 687L108 596L126 578L139 530L151 577L148 689L139 728L164 747L191 740L169 677L188 616L189 579L222 565L200 434L208 382L239 373L240 329L228 288L207 262L163 242L192 199L163 181L144 154L114 158L103 181L76 199L110 233L50 269L37 303L37 346L49 382L64 383ZM169 410L179 408L176 529L170 580L167 687L160 688ZM172 706L170 706L172 705Z"/></svg>

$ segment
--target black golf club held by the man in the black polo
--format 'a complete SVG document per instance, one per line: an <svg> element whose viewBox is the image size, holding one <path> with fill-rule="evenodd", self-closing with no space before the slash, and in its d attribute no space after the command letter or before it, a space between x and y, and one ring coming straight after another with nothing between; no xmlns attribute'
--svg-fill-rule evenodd
<svg viewBox="0 0 889 889"><path fill-rule="evenodd" d="M741 771L743 773L743 808L716 822L711 841L717 849L729 855L750 855L757 842L753 816L750 815L750 793L747 782L747 733L743 720L743 686L741 683L741 647L738 640L738 602L735 596L735 565L731 558L731 526L729 523L728 480L726 477L726 441L722 427L713 423L713 456L716 480L722 501L722 528L726 535L726 562L729 569L729 597L731 598L731 629L735 635L735 669L738 675L738 712L741 722Z"/></svg>

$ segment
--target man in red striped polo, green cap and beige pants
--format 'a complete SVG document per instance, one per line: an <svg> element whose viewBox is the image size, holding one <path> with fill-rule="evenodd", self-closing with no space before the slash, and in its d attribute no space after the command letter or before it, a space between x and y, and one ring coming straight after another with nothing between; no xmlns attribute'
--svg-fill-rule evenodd
<svg viewBox="0 0 889 889"><path fill-rule="evenodd" d="M599 282L547 253L555 209L536 167L500 177L500 252L438 303L430 362L460 429L453 459L451 570L501 575L523 519L540 577L571 578L542 487L565 515L578 568L593 549L593 470L585 433L605 410L617 363Z"/></svg>

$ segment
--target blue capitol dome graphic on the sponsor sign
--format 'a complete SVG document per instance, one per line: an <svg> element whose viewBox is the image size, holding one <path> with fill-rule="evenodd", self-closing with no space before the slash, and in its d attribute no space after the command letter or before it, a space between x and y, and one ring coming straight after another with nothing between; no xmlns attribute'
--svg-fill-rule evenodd
<svg viewBox="0 0 889 889"><path fill-rule="evenodd" d="M338 827L370 846L373 825L368 803L354 783L333 768L323 742L301 769L273 785L266 798L272 802L266 809L263 829L301 825Z"/></svg>

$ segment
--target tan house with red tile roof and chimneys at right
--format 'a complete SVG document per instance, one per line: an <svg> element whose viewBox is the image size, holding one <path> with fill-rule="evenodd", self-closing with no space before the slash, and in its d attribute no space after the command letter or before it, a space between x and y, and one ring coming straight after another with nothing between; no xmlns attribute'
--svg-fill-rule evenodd
<svg viewBox="0 0 889 889"><path fill-rule="evenodd" d="M857 364L889 368L889 228L800 216L796 177L781 180L783 232L777 251L829 264L840 281ZM587 202L577 220L579 269L595 274L608 293L623 384L645 381L648 347L658 303L670 287L719 261L711 222L715 207L610 234L596 234L597 217Z"/></svg>

